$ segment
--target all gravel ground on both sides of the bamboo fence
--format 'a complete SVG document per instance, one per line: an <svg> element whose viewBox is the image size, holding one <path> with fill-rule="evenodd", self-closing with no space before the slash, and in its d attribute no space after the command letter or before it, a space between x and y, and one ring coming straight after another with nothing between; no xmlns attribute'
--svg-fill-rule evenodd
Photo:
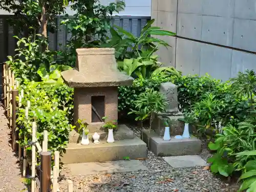
<svg viewBox="0 0 256 192"><path fill-rule="evenodd" d="M0 121L0 192L27 191L26 186L21 182L17 158L9 144L10 129L2 106L0 106ZM132 129L137 136L140 136L138 128L132 127ZM207 151L206 144L202 143L201 157L207 160L211 155ZM68 170L62 170L59 188L61 192L67 191L67 180L70 179L73 181L74 192L237 192L238 190L237 185L211 174L209 167L175 169L151 152L148 152L147 159L142 160L142 163L149 170L75 177Z"/></svg>

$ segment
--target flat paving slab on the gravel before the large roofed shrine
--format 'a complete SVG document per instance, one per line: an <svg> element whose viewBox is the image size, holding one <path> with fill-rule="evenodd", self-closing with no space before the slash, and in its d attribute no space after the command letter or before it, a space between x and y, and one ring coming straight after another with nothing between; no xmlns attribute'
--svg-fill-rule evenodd
<svg viewBox="0 0 256 192"><path fill-rule="evenodd" d="M65 168L68 168L73 176L130 173L148 170L139 160L74 163L65 165Z"/></svg>

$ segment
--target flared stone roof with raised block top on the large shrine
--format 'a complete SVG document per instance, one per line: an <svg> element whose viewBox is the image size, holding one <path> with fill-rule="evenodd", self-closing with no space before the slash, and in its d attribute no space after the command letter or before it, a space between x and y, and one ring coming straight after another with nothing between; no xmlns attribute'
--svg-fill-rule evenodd
<svg viewBox="0 0 256 192"><path fill-rule="evenodd" d="M117 87L131 86L133 78L117 69L115 49L77 49L76 68L63 71L63 79L69 87Z"/></svg>

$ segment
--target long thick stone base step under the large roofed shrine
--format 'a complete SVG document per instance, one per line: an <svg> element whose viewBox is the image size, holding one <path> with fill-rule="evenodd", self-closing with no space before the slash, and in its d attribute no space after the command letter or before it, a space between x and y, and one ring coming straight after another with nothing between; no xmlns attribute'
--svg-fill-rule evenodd
<svg viewBox="0 0 256 192"><path fill-rule="evenodd" d="M124 157L130 159L146 158L146 143L135 136L134 139L125 139L107 143L100 141L99 144L90 143L81 145L69 143L66 153L61 157L64 164L86 163L86 162L104 162L123 160Z"/></svg>

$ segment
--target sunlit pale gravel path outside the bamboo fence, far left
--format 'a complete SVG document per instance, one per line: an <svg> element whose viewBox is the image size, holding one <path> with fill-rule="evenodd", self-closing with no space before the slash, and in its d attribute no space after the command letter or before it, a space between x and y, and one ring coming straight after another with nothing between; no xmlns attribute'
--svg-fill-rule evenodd
<svg viewBox="0 0 256 192"><path fill-rule="evenodd" d="M0 106L0 191L26 191L22 183L20 168L15 153L12 152L10 140L11 130L7 125L3 106Z"/></svg>

